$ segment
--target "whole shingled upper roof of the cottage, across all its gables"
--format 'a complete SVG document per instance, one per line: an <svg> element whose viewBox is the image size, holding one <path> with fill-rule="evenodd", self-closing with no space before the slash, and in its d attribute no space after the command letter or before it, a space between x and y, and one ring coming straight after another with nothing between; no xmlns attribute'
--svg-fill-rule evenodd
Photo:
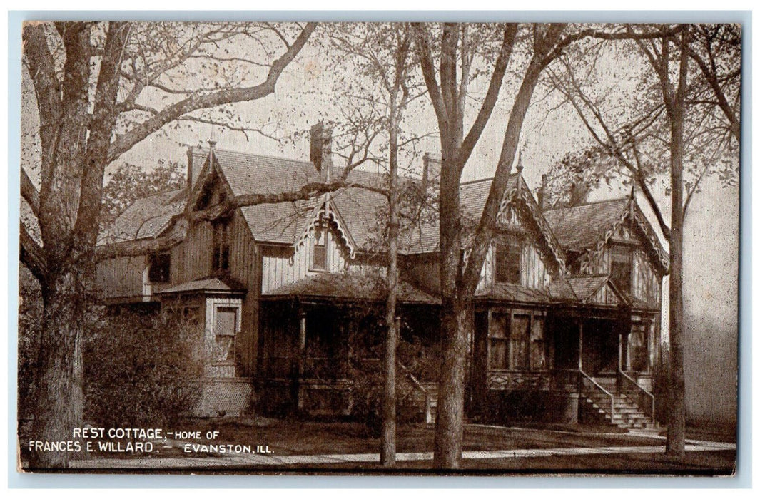
<svg viewBox="0 0 760 499"><path fill-rule="evenodd" d="M319 172L308 161L285 159L251 153L214 148L213 156L208 148L194 147L190 150L193 165L201 166L195 192L215 167L222 172L221 178L230 193L277 194L283 191L297 191L309 182L318 182ZM208 159L214 158L210 165ZM334 176L342 174L341 169L333 169ZM349 182L372 187L382 186L385 175L354 169L348 175ZM404 182L404 181L402 181ZM407 180L406 182L416 182ZM460 188L462 212L465 217L477 221L486 204L492 178L464 182ZM181 213L186 202L185 190L169 191L138 200L128 207L116 222L101 234L100 243L121 242L135 238L156 237L168 226L172 216ZM252 235L258 242L295 245L309 227L309 223L321 209L326 196L318 196L305 201L277 204L259 204L242 207L244 217ZM387 211L384 195L363 188L346 188L327 196L330 207L343 222L344 235L355 246L354 250L374 249L379 234L384 232L383 213ZM654 230L640 210L629 209L629 199L622 198L579 207L561 208L541 212L533 194L519 172L510 175L502 199L500 210L507 204L517 204L521 213L530 219L530 227L541 236L544 251L549 251L562 267L565 264L565 250L578 251L592 248L600 240L609 238L610 229L632 213L641 231L648 235L651 253L660 265L667 266L667 253L659 244ZM634 204L635 205L635 204ZM423 254L438 251L439 223L437 217L428 217L422 223L401 233L402 254Z"/></svg>

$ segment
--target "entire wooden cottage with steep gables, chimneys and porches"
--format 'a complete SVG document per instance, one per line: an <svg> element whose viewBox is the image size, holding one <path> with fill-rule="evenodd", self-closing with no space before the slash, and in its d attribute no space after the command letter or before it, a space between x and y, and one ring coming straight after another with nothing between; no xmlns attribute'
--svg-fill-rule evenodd
<svg viewBox="0 0 760 499"><path fill-rule="evenodd" d="M312 130L321 139L312 162L192 148L187 187L137 201L100 242L157 238L183 210L334 178L324 133ZM423 182L405 185L434 188L439 167L426 157ZM384 182L358 170L349 179ZM465 213L480 213L489 187L461 186ZM357 366L379 372L386 210L382 194L362 188L243 207L190 227L170 251L104 261L97 283L108 305L168 308L197 324L211 359L197 415L350 414ZM434 219L404 231L399 321L421 349L400 371L428 421L437 255ZM543 211L521 172L512 175L474 301L470 417L651 425L665 273L667 254L634 198Z"/></svg>

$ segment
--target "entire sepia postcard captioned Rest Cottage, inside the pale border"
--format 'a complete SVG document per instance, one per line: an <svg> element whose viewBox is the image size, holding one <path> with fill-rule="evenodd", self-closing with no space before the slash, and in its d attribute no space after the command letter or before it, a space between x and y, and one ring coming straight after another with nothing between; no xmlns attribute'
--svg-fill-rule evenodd
<svg viewBox="0 0 760 499"><path fill-rule="evenodd" d="M744 34L24 22L18 472L735 475Z"/></svg>

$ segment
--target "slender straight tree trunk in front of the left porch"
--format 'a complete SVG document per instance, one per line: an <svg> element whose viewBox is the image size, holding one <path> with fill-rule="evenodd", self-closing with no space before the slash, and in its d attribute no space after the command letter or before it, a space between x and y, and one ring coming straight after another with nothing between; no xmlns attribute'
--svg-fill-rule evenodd
<svg viewBox="0 0 760 499"><path fill-rule="evenodd" d="M390 185L388 193L388 300L385 304L384 375L382 400L382 436L380 463L383 466L396 464L396 346L399 331L396 323L396 302L398 297L398 123L395 99L391 95L390 151L388 168Z"/></svg>

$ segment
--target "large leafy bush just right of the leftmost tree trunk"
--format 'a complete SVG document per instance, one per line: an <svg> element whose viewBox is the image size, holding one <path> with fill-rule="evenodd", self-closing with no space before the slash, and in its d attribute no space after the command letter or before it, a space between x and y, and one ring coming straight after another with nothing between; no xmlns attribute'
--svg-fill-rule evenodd
<svg viewBox="0 0 760 499"><path fill-rule="evenodd" d="M198 405L204 358L197 327L166 314L104 317L84 346L84 406L100 425L161 426Z"/></svg>

